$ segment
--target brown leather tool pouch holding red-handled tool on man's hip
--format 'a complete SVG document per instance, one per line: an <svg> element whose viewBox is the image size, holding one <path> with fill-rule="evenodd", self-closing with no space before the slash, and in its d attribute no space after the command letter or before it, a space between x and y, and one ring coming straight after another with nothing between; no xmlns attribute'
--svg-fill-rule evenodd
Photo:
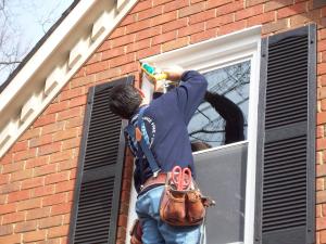
<svg viewBox="0 0 326 244"><path fill-rule="evenodd" d="M214 205L211 201L210 205ZM205 208L200 190L196 184L189 190L177 191L170 182L165 184L161 203L161 220L171 226L199 226L205 217Z"/></svg>

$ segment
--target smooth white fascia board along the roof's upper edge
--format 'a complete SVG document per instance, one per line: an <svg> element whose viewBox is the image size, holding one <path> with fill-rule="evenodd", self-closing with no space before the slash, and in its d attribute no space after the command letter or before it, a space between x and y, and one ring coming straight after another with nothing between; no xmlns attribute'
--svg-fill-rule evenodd
<svg viewBox="0 0 326 244"><path fill-rule="evenodd" d="M20 73L7 86L0 94L0 111L11 103L17 93L30 80L30 77L41 64L59 47L62 40L77 25L78 21L87 14L87 11L96 3L96 0L79 1L72 12L63 20L45 43L37 50L32 59L24 65ZM32 80L30 80L32 81Z"/></svg>

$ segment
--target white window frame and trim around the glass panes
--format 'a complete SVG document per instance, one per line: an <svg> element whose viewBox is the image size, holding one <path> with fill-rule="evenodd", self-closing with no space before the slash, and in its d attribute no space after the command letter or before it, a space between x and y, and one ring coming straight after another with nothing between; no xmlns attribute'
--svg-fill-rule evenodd
<svg viewBox="0 0 326 244"><path fill-rule="evenodd" d="M246 183L246 208L244 208L244 244L253 244L254 234L254 204L255 204L255 168L256 168L256 128L258 128L258 101L259 101L259 77L260 77L260 56L261 56L261 26L254 26L225 36L216 37L200 43L173 50L151 56L141 62L154 64L159 67L170 67L179 65L183 68L195 69L205 73L218 67L238 63L243 60L251 60L250 90L249 90L249 114L248 114L248 138L243 142L248 143L248 164ZM149 91L148 91L149 92ZM231 145L231 144L229 144ZM225 146L229 146L225 145ZM220 147L209 149L218 150ZM204 153L201 151L198 153ZM197 154L197 153L195 153ZM252 177L250 177L252 176ZM128 231L131 228L135 213L137 194L131 190L127 239L129 244ZM211 244L211 243L208 243Z"/></svg>

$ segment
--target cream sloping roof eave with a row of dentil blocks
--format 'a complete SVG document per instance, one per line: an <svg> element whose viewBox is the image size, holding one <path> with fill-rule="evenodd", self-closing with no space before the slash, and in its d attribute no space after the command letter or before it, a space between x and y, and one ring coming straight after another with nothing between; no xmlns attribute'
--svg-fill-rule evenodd
<svg viewBox="0 0 326 244"><path fill-rule="evenodd" d="M35 51L0 94L0 157L136 2L79 1Z"/></svg>

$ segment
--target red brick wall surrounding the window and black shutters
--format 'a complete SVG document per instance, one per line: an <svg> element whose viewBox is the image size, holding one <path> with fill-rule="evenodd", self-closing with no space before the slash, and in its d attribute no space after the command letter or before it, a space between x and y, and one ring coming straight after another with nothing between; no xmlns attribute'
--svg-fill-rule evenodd
<svg viewBox="0 0 326 244"><path fill-rule="evenodd" d="M318 24L316 240L326 243L326 8L306 0L141 0L0 160L0 243L66 243L90 86L138 60L262 24L262 36ZM129 154L128 154L129 155ZM131 162L124 172L117 243L124 243Z"/></svg>

